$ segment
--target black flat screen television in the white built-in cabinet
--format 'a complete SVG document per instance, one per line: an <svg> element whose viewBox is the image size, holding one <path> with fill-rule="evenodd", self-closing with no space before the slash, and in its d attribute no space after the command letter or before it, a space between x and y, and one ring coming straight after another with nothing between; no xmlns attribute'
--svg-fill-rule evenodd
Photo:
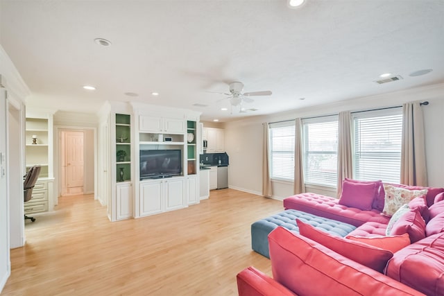
<svg viewBox="0 0 444 296"><path fill-rule="evenodd" d="M181 150L140 150L140 180L182 173Z"/></svg>

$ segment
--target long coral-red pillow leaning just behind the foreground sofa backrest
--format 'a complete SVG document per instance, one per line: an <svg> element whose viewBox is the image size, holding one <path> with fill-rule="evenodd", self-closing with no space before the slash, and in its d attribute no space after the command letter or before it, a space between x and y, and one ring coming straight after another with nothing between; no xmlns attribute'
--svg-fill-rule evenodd
<svg viewBox="0 0 444 296"><path fill-rule="evenodd" d="M366 265L373 270L382 272L386 267L387 261L393 256L393 253L388 250L382 250L379 247L373 247L358 241L350 241L341 236L333 236L328 232L303 223L299 219L296 219L296 223L298 224L300 235L325 245L330 250L362 265Z"/></svg>

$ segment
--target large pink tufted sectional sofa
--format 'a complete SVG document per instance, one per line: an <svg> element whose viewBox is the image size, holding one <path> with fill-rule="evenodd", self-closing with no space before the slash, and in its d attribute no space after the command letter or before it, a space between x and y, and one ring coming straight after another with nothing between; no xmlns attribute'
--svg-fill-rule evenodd
<svg viewBox="0 0 444 296"><path fill-rule="evenodd" d="M340 199L314 193L286 198L285 209L350 223L357 229L341 241L344 238L319 238L326 234L316 234L314 229L299 227L296 234L278 227L268 236L273 279L247 268L237 275L239 295L323 295L323 289L334 295L444 295L444 189L427 188L425 198L413 198L390 218L382 215L388 213L386 193L382 182L376 183L373 189L364 189L373 200L356 201L360 195L353 190L348 191L355 194L349 200L344 192ZM390 185L415 192L425 189ZM380 238L404 239L404 244L376 245L367 252L368 241ZM349 246L351 240L357 242ZM364 262L373 256L371 252L379 256L375 261L383 260L379 271Z"/></svg>

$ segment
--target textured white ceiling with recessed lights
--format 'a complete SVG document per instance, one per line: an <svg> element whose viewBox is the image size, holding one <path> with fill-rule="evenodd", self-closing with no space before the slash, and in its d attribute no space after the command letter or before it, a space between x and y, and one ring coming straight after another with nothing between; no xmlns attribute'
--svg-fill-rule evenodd
<svg viewBox="0 0 444 296"><path fill-rule="evenodd" d="M444 1L0 0L0 42L30 107L92 113L133 100L230 121L444 82ZM409 76L420 69L434 71ZM404 79L373 82L386 72ZM255 112L223 112L225 96L210 92L232 81L273 95L245 105Z"/></svg>

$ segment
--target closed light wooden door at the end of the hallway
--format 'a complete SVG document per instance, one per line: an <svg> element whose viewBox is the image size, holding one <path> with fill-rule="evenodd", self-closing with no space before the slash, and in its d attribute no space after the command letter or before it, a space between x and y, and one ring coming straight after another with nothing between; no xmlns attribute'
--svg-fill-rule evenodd
<svg viewBox="0 0 444 296"><path fill-rule="evenodd" d="M62 196L84 193L84 139L83 130L60 132Z"/></svg>

